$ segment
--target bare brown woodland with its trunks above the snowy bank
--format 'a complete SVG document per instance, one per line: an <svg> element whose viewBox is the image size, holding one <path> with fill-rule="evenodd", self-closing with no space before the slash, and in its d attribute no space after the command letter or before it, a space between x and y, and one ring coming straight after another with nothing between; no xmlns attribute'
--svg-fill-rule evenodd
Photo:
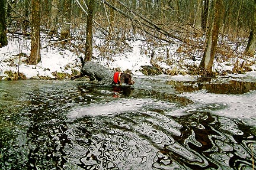
<svg viewBox="0 0 256 170"><path fill-rule="evenodd" d="M219 35L237 44L246 38L244 54L255 54L255 6L256 0L0 0L0 47L7 45L6 30L22 28L20 33L31 37L30 61L35 64L40 61L40 30L60 42L78 38L72 32L80 30L86 34L85 60L92 57L93 30L116 44L140 34L191 46L193 38L206 35L200 70L210 75Z"/></svg>

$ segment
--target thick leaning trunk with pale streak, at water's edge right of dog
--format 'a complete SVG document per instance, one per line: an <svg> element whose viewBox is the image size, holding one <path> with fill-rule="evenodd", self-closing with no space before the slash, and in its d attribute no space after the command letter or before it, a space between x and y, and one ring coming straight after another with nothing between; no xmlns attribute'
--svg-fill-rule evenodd
<svg viewBox="0 0 256 170"><path fill-rule="evenodd" d="M220 21L222 18L223 0L213 0L213 18L210 23L210 29L206 37L206 48L200 63L200 73L202 76L212 76L213 60L217 47L217 38L219 34Z"/></svg>

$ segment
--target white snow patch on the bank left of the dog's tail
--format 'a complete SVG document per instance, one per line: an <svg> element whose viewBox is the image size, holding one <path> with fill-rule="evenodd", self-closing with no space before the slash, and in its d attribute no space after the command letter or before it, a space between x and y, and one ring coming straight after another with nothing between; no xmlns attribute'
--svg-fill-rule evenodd
<svg viewBox="0 0 256 170"><path fill-rule="evenodd" d="M24 53L25 56L20 58L20 66L18 67L18 54ZM9 39L8 45L0 48L0 76L3 79L7 76L5 71L17 72L25 74L27 79L37 78L38 76L49 76L55 78L52 73L60 72L71 74L71 69L79 70L76 66L76 58L69 50L62 50L59 47L41 48L41 62L37 65L26 64L28 55L30 55L30 40L18 42L15 39Z"/></svg>

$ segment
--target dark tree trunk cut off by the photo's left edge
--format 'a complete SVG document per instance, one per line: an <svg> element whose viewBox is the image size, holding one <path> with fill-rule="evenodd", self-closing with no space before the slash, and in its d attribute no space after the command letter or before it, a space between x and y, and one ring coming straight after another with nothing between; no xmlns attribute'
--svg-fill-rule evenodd
<svg viewBox="0 0 256 170"><path fill-rule="evenodd" d="M0 0L0 48L8 44L7 28L5 26L5 8L4 1Z"/></svg>

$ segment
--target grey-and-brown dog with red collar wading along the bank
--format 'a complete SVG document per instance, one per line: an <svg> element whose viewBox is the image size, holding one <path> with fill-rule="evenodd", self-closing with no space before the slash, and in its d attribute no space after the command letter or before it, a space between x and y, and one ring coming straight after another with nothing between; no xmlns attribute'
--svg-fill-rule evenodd
<svg viewBox="0 0 256 170"><path fill-rule="evenodd" d="M118 71L110 70L98 63L92 61L84 61L81 59L82 68L80 74L71 77L71 80L88 76L91 81L98 80L103 84L123 84L133 85L135 81L132 79L132 76L129 73L123 73Z"/></svg>

